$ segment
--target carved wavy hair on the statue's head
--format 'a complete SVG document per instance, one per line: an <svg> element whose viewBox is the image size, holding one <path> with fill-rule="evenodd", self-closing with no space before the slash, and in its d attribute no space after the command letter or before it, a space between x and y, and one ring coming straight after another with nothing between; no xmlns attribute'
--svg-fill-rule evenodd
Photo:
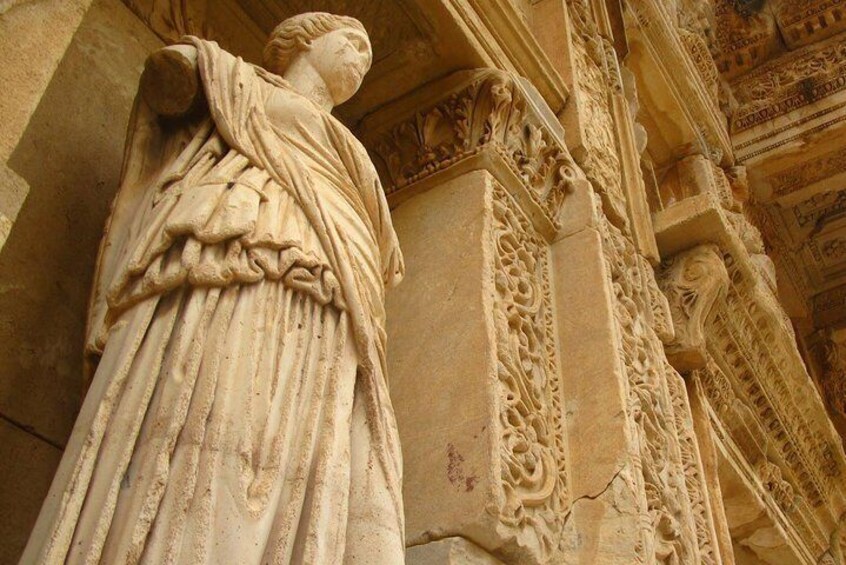
<svg viewBox="0 0 846 565"><path fill-rule="evenodd" d="M325 12L307 12L284 20L271 32L264 48L264 67L282 75L300 51L309 49L311 42L327 33L353 28L365 35L367 30L355 18Z"/></svg>

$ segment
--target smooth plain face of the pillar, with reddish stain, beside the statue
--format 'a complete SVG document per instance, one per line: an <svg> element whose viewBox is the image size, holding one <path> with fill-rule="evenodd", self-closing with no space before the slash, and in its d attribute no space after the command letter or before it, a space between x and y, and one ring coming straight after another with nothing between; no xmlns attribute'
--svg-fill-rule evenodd
<svg viewBox="0 0 846 565"><path fill-rule="evenodd" d="M407 263L387 298L388 374L410 542L478 528L494 502L489 182L473 172L393 211Z"/></svg>

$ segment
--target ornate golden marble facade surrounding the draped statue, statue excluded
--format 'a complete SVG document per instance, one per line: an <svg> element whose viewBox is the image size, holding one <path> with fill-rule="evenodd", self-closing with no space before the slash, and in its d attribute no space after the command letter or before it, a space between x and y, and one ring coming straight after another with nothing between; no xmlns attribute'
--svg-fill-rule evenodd
<svg viewBox="0 0 846 565"><path fill-rule="evenodd" d="M0 561L88 386L146 58L259 63L307 11L373 48L334 113L406 263L406 562L846 564L837 0L0 1Z"/></svg>

